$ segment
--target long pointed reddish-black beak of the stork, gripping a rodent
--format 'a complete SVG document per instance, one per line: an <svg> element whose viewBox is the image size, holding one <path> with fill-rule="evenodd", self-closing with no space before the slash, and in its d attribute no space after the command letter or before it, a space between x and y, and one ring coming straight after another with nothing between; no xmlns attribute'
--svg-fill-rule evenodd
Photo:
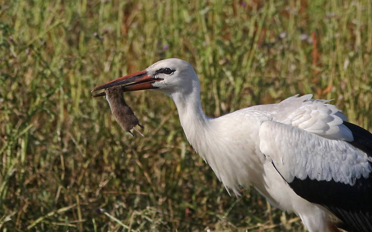
<svg viewBox="0 0 372 232"><path fill-rule="evenodd" d="M148 75L146 70L142 70L140 72L135 72L127 76L122 76L115 80L109 81L106 84L97 86L91 92L94 92L100 89L107 89L107 88L110 88L116 85L125 85L125 84L128 84L128 85L122 86L123 92L137 91L137 90L144 90L144 89L155 89L157 87L153 86L154 82L161 81L161 80L163 79L154 78L153 76ZM99 94L93 95L92 97L102 97L105 95L106 95L105 92L101 92Z"/></svg>

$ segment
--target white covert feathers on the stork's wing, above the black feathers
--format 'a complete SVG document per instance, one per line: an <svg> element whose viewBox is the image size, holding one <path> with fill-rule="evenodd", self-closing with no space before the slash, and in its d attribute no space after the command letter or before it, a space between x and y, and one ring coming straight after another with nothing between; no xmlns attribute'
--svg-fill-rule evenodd
<svg viewBox="0 0 372 232"><path fill-rule="evenodd" d="M367 154L343 140L275 121L262 123L259 138L260 150L288 183L309 177L353 185L372 171Z"/></svg>

